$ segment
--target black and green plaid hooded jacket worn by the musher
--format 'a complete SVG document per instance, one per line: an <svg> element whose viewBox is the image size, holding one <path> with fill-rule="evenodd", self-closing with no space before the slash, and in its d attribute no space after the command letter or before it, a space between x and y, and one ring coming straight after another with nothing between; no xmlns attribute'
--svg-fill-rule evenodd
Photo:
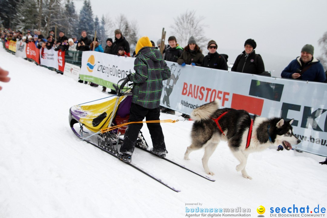
<svg viewBox="0 0 327 218"><path fill-rule="evenodd" d="M170 78L170 69L160 51L154 47L143 47L134 61L135 74L130 76L134 83L132 102L153 109L160 105L163 80Z"/></svg>

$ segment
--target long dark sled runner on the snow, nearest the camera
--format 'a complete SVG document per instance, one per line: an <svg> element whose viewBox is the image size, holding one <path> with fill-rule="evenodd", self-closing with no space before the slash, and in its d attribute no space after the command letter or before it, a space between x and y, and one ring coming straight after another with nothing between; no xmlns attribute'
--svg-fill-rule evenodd
<svg viewBox="0 0 327 218"><path fill-rule="evenodd" d="M73 128L72 128L73 129ZM73 129L75 135L77 135L78 138L83 139L76 131L75 129ZM106 145L105 142L103 141L102 137L97 136L98 138L98 144L93 143L92 141L90 141L89 139L85 139L83 141L90 143L92 145L94 145L95 147L101 149L102 151L114 156L115 158L117 158L117 153L115 152L116 149L114 149L114 144L109 143L109 145ZM118 158L117 158L118 159ZM124 162L124 161L122 161ZM146 176L149 176L150 178L156 180L157 182L161 183L162 185L166 186L167 188L175 191L175 192L180 192L181 190L174 188L172 185L169 185L168 183L164 182L161 178L152 175L150 172L146 171L145 169L143 169L142 167L137 166L135 163L128 163L128 162L124 162L127 165L137 169L138 171L142 172L143 174L145 174Z"/></svg>

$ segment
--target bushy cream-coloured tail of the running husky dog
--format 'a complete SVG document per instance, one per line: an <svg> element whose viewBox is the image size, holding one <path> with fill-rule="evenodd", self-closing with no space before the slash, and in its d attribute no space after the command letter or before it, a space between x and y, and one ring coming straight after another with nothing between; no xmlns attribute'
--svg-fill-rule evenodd
<svg viewBox="0 0 327 218"><path fill-rule="evenodd" d="M210 119L212 114L219 109L220 102L218 98L210 103L201 105L200 107L194 109L191 113L191 119L194 121L201 121Z"/></svg>

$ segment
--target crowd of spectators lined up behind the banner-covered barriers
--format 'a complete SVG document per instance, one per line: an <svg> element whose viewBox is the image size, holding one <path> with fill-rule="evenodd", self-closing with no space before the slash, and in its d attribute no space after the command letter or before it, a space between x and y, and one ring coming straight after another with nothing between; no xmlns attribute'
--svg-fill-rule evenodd
<svg viewBox="0 0 327 218"><path fill-rule="evenodd" d="M33 31L28 29L25 34L21 31L3 30L1 31L1 39L3 41L22 41L34 42L35 45L41 49L51 49L52 47L58 51L97 51L107 54L133 57L134 53L130 53L129 42L123 36L120 29L114 31L114 41L111 38L106 40L105 47L99 44L97 39L92 39L88 36L86 31L82 31L80 38L71 36L68 38L63 31L59 31L59 36L55 37L55 32L50 30L44 37L43 33L37 29ZM158 47L151 41L152 47L160 49L161 39L157 41ZM227 59L228 55L219 54L217 52L218 45L214 40L210 40L207 45L208 54L204 56L202 50L199 48L195 38L191 36L187 45L182 48L177 43L174 36L168 38L168 44L164 45L163 58L164 60L177 62L181 66L202 66L207 68L214 68L220 70L228 70ZM265 65L262 57L255 53L257 47L253 39L248 39L244 43L244 51L237 56L231 71L256 74L256 75L270 75L265 71ZM306 44L301 50L301 55L291 61L291 63L283 70L281 76L283 78L300 79L316 82L326 82L326 75L323 66L319 60L313 57L314 47ZM103 92L105 92L105 87Z"/></svg>

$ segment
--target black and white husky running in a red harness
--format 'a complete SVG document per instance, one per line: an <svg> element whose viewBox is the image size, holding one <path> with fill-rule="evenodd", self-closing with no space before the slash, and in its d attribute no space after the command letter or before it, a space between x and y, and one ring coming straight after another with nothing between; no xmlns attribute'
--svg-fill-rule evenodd
<svg viewBox="0 0 327 218"><path fill-rule="evenodd" d="M223 113L225 114L222 115ZM214 119L218 117L220 119L215 121ZM283 144L286 150L290 150L291 144L301 142L293 134L291 126L293 119L285 121L283 118L254 117L252 135L248 136L251 125L249 113L232 108L219 109L217 99L194 109L191 118L195 121L191 132L192 143L187 147L184 159L189 160L188 156L192 151L204 148L202 164L205 172L210 175L214 173L209 170L208 160L221 140L228 142L233 155L240 161L236 171L241 171L242 176L248 179L252 178L247 174L245 165L250 153L262 151L271 144L275 146Z"/></svg>

